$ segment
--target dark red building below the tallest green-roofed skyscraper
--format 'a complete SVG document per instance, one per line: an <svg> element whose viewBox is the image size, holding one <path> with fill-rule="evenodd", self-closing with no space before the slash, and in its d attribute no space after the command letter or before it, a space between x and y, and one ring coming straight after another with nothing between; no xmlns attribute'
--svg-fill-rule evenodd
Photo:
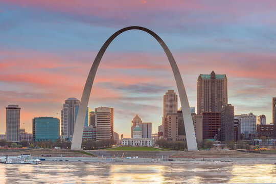
<svg viewBox="0 0 276 184"><path fill-rule="evenodd" d="M216 139L220 129L220 112L201 112L201 115L202 139Z"/></svg>

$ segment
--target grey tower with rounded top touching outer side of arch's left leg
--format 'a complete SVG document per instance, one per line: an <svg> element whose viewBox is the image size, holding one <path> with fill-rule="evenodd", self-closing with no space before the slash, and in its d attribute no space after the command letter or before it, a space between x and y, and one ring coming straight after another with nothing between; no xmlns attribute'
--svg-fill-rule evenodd
<svg viewBox="0 0 276 184"><path fill-rule="evenodd" d="M71 140L74 133L75 125L75 108L78 107L80 101L76 98L68 98L63 104L61 110L61 134L64 135L65 139Z"/></svg>

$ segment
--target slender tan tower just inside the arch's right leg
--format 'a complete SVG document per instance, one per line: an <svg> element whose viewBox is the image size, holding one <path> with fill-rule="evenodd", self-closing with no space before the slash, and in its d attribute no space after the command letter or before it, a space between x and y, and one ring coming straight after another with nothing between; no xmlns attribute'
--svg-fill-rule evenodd
<svg viewBox="0 0 276 184"><path fill-rule="evenodd" d="M168 90L163 96L163 117L167 113L177 113L177 95L174 90Z"/></svg>

